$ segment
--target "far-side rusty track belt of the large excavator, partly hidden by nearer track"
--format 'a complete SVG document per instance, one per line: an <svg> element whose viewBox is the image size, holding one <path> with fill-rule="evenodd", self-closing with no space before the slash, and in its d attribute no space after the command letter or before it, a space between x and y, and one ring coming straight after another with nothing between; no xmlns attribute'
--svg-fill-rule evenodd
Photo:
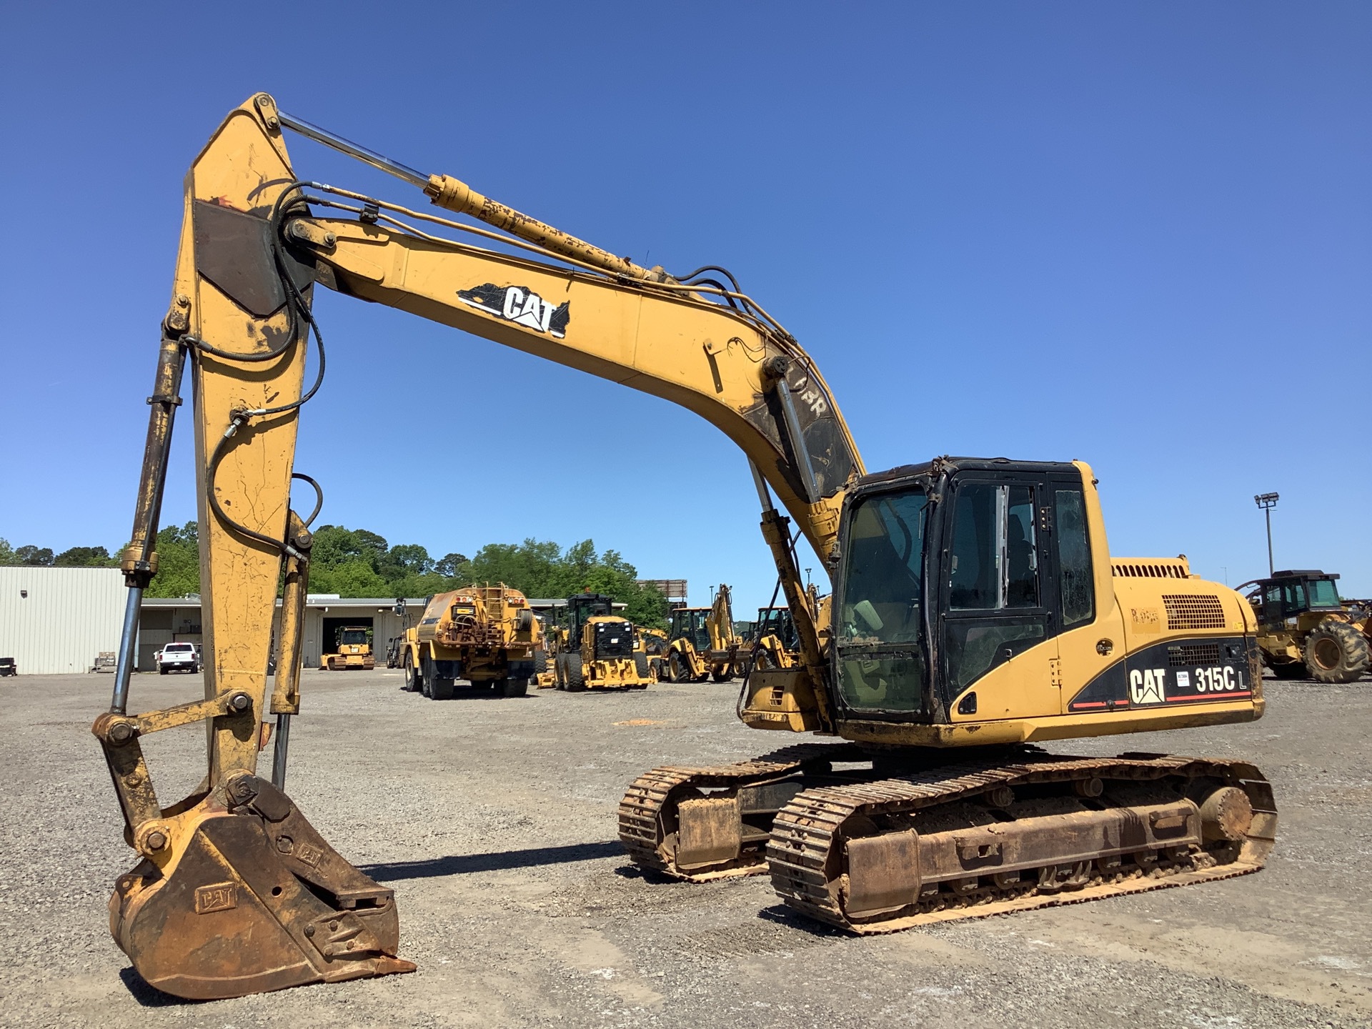
<svg viewBox="0 0 1372 1029"><path fill-rule="evenodd" d="M799 771L804 764L819 760L863 760L863 755L849 744L797 744L734 764L653 768L634 779L624 793L624 799L619 803L619 840L635 864L674 878L707 882L735 875L757 875L767 867L760 855L756 858L745 856L730 867L700 873L683 871L670 864L657 849L663 842L659 818L663 807L678 786L738 789L783 778Z"/></svg>

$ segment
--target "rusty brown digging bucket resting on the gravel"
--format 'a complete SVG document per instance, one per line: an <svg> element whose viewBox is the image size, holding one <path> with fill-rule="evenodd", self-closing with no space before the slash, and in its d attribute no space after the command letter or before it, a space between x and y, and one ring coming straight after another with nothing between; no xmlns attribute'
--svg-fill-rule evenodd
<svg viewBox="0 0 1372 1029"><path fill-rule="evenodd" d="M270 782L241 774L180 826L184 844L169 823L174 853L140 862L110 899L110 932L150 985L220 1000L414 970L395 956L392 890Z"/></svg>

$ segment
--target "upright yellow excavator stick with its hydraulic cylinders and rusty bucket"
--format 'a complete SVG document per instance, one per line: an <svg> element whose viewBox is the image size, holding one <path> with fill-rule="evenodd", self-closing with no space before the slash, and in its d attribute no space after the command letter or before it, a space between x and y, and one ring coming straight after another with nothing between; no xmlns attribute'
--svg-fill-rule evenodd
<svg viewBox="0 0 1372 1029"><path fill-rule="evenodd" d="M313 542L314 514L302 520L289 508L291 480L305 477L292 469L298 412L314 392L303 390L313 269L277 243L281 211L294 203L294 173L270 119L274 110L262 97L230 113L187 178L133 543L122 560L129 613L114 700L92 727L123 811L125 840L141 855L115 882L110 932L148 984L196 1000L414 969L395 956L394 893L348 864L283 792ZM156 572L185 365L195 377L204 698L130 716L137 611ZM269 707L283 567L285 609ZM277 718L274 785L257 775L268 713ZM198 722L206 726L204 781L162 807L141 738Z"/></svg>

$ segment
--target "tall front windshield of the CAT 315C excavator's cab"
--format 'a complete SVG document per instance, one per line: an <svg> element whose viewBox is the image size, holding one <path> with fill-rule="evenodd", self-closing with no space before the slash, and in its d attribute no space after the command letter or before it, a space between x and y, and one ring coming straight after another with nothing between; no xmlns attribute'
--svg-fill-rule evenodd
<svg viewBox="0 0 1372 1029"><path fill-rule="evenodd" d="M838 690L852 708L922 707L926 505L923 490L912 488L873 494L849 512L834 642Z"/></svg>

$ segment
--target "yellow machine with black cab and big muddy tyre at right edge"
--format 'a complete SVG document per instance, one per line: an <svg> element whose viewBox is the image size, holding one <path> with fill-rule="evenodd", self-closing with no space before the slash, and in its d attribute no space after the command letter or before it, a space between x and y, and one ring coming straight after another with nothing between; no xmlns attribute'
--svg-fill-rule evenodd
<svg viewBox="0 0 1372 1029"><path fill-rule="evenodd" d="M1372 667L1372 605L1346 604L1338 575L1318 569L1273 572L1236 587L1258 619L1262 663L1279 679L1357 682Z"/></svg>

